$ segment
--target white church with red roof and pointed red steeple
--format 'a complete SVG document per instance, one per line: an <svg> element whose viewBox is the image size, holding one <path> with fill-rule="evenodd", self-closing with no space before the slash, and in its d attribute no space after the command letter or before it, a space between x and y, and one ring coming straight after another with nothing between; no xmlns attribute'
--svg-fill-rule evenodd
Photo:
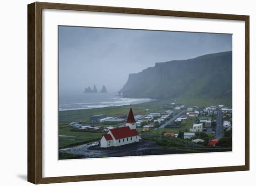
<svg viewBox="0 0 256 186"><path fill-rule="evenodd" d="M134 119L132 108L130 108L126 126L109 129L108 133L101 137L101 147L117 147L137 141L139 141L139 134L136 130L136 121Z"/></svg>

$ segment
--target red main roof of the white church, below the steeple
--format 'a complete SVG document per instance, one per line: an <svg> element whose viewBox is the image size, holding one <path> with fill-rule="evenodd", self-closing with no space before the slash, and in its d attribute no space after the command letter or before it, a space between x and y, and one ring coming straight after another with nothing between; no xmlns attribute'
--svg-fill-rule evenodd
<svg viewBox="0 0 256 186"><path fill-rule="evenodd" d="M112 128L109 130L116 140L139 135L136 129L130 127Z"/></svg>

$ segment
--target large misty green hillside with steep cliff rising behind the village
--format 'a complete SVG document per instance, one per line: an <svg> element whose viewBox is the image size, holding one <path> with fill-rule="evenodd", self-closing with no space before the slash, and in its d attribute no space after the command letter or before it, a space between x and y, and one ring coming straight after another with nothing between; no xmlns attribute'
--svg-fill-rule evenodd
<svg viewBox="0 0 256 186"><path fill-rule="evenodd" d="M232 51L156 63L130 74L120 90L127 97L232 100Z"/></svg>

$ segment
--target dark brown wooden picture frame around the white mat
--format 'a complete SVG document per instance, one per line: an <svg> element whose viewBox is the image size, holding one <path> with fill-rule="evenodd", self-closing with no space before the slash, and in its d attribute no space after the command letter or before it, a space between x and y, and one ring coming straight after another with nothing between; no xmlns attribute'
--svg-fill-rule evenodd
<svg viewBox="0 0 256 186"><path fill-rule="evenodd" d="M245 21L245 165L205 167L177 170L108 173L63 177L42 177L42 9L76 10L104 13L128 13L186 18L227 19ZM216 173L249 170L249 16L217 13L196 13L110 6L90 6L34 2L27 6L27 180L34 184L110 180L195 173Z"/></svg>

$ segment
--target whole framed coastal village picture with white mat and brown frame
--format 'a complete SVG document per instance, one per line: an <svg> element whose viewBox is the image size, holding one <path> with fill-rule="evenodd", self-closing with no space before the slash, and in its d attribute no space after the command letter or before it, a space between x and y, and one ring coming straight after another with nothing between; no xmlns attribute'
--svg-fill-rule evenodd
<svg viewBox="0 0 256 186"><path fill-rule="evenodd" d="M29 182L249 170L249 16L27 10Z"/></svg>

